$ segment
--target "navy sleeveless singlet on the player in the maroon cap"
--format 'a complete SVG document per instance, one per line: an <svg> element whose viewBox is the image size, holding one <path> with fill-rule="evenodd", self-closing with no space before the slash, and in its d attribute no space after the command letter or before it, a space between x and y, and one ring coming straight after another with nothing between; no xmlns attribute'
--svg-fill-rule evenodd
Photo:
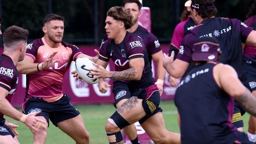
<svg viewBox="0 0 256 144"><path fill-rule="evenodd" d="M178 85L174 102L180 113L182 144L233 144L234 98L213 78L213 63L193 68Z"/></svg>

